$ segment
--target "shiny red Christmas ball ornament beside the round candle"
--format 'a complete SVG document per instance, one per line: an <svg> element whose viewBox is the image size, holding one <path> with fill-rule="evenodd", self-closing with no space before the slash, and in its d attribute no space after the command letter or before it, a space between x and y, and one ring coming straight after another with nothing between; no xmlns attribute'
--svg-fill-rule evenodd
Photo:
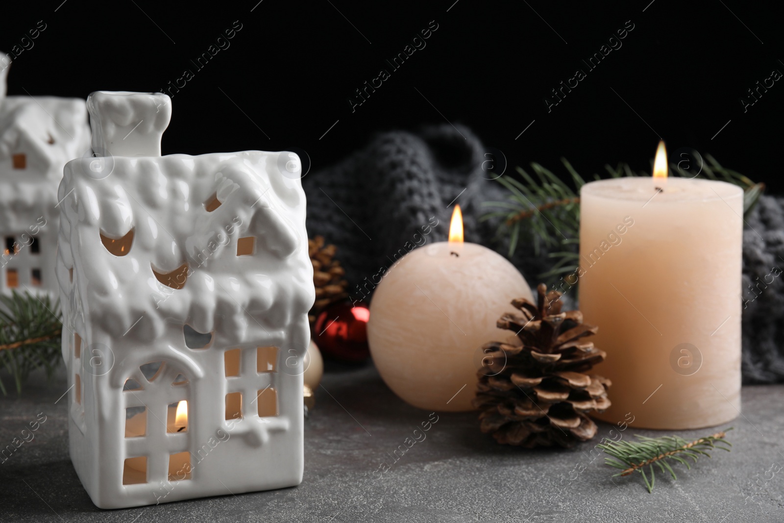
<svg viewBox="0 0 784 523"><path fill-rule="evenodd" d="M365 303L334 303L316 318L314 342L326 358L343 363L361 363L368 348L370 310Z"/></svg>

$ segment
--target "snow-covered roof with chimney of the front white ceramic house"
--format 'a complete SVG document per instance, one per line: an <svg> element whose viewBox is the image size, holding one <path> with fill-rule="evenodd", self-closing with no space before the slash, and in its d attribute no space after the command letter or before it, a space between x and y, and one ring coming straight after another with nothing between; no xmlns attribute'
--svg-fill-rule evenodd
<svg viewBox="0 0 784 523"><path fill-rule="evenodd" d="M100 147L110 151L117 150L111 143L118 142L125 128L154 118L157 104L164 101L169 111L171 107L169 96L160 93L117 93L108 104L91 98L91 120L102 122L94 126L94 134L96 128L115 133L97 133L93 145L103 144ZM160 127L169 122L163 120L147 129L147 143L140 137L136 146L148 151L151 141L160 139ZM64 270L58 269L57 276L68 293L67 268L75 267L71 304L85 311L87 329L118 338L139 321L129 336L152 341L162 335L167 321L184 322L198 332L216 332L216 342L224 344L260 336L283 339L289 325L307 321L314 287L305 194L297 176L281 172L281 154L244 151L69 162L59 193L64 198L59 240ZM102 242L102 235L129 238L131 232L132 242L122 256ZM238 249L248 248L251 253L238 256ZM184 264L187 269L178 273ZM184 281L181 289L162 283L176 287L175 279Z"/></svg>

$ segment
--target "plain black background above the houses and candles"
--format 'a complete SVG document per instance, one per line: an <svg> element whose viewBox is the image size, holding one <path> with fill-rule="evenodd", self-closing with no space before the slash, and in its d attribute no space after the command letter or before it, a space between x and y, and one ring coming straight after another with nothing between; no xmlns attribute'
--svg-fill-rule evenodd
<svg viewBox="0 0 784 523"><path fill-rule="evenodd" d="M172 100L164 154L299 147L318 170L377 131L448 121L503 151L510 168L540 162L564 175L563 156L583 175L620 161L649 169L662 137L671 152L693 147L784 191L774 156L784 82L747 112L740 103L784 71L773 5L56 0L2 10L5 52L46 24L14 61L9 94L157 91L193 71ZM191 60L234 20L242 28L230 47L197 70ZM392 71L386 60L431 20L426 47ZM626 20L634 29L622 47L588 71L581 59ZM548 112L544 98L577 68L587 78ZM380 69L391 78L352 112L354 89Z"/></svg>

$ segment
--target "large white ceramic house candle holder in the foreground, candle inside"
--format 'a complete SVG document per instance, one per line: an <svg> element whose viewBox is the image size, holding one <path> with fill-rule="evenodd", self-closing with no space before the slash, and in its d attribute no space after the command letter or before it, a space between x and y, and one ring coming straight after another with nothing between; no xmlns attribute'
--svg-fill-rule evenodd
<svg viewBox="0 0 784 523"><path fill-rule="evenodd" d="M296 156L161 156L169 96L87 105L98 156L65 166L56 267L82 485L102 508L299 485L314 286Z"/></svg>

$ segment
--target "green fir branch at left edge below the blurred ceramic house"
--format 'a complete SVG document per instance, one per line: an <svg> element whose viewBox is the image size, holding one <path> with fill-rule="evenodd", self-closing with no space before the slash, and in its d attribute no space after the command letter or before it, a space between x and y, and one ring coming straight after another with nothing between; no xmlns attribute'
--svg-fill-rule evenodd
<svg viewBox="0 0 784 523"><path fill-rule="evenodd" d="M43 368L49 379L62 359L60 302L14 291L0 296L0 303L0 365L13 377L16 394L21 394L30 372ZM8 394L2 380L0 392Z"/></svg>

